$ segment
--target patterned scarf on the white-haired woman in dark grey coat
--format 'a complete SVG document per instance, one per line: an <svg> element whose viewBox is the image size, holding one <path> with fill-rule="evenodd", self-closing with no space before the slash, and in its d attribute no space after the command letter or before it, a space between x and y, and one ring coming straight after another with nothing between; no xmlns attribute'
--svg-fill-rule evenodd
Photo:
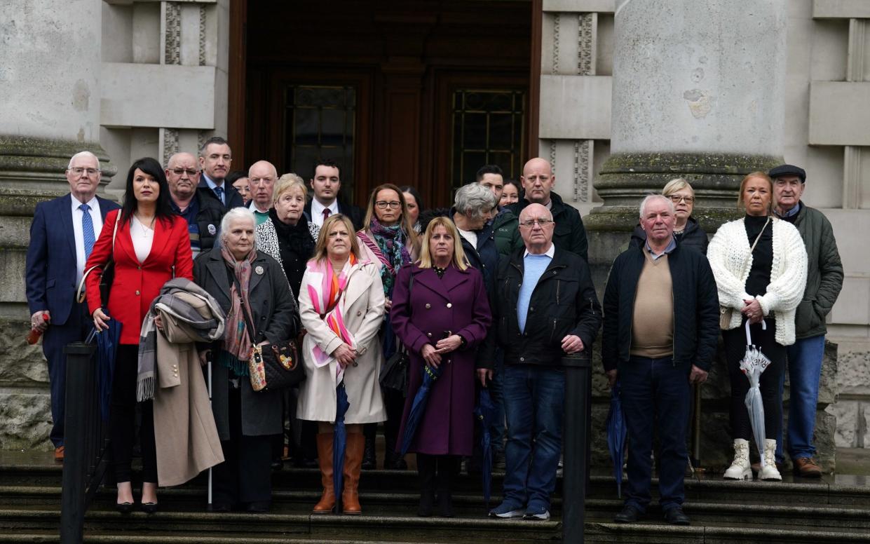
<svg viewBox="0 0 870 544"><path fill-rule="evenodd" d="M232 256L226 245L221 248L220 254L224 258L227 267L238 279L238 285L244 285L244 288L242 292L238 292L236 282L232 282L230 285L230 311L226 313L226 320L224 322L225 332L222 351L225 355L223 353L218 355L218 360L237 376L247 376L249 375L248 359L251 358L251 336L256 334L256 332L251 331L250 336L245 332L247 327L244 325L245 314L242 312L242 305L244 304L247 315L252 316L251 303L248 301L247 285L251 282L251 263L254 262L254 259L257 259L257 249L252 249L247 257L241 261L237 261Z"/></svg>

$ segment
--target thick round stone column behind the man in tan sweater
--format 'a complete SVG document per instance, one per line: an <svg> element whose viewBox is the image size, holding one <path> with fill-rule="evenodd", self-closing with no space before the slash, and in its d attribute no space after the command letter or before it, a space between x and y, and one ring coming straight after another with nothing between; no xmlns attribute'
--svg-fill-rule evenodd
<svg viewBox="0 0 870 544"><path fill-rule="evenodd" d="M740 178L783 154L785 0L617 0L614 25L605 204L585 219L602 282L646 193L688 179L713 232Z"/></svg>

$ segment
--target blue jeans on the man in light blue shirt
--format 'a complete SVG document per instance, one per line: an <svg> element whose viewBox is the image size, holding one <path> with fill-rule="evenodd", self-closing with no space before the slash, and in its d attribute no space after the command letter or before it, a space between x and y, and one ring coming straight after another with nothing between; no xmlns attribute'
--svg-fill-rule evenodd
<svg viewBox="0 0 870 544"><path fill-rule="evenodd" d="M505 502L550 509L562 451L565 371L505 365Z"/></svg>

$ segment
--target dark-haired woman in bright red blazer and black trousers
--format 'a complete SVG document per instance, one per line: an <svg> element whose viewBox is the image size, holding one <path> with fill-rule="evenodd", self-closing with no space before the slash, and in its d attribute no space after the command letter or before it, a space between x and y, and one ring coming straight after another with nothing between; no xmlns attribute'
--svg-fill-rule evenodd
<svg viewBox="0 0 870 544"><path fill-rule="evenodd" d="M115 226L117 222L117 232ZM169 185L153 158L140 158L127 173L124 206L106 215L85 270L95 266L86 281L88 308L97 330L109 319L121 323L109 417L117 509L133 507L131 454L135 441L136 384L139 332L151 302L164 283L175 278L193 280L191 238L184 218L172 212ZM109 300L100 299L100 277L109 259L115 260L115 279ZM108 304L107 304L108 302ZM151 400L142 403L142 509L157 511L157 454Z"/></svg>

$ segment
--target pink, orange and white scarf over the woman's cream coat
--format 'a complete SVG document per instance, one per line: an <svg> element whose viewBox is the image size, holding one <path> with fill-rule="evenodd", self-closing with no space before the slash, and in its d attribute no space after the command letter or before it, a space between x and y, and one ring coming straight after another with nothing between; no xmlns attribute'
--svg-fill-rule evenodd
<svg viewBox="0 0 870 544"><path fill-rule="evenodd" d="M308 296L311 298L311 306L314 306L314 311L318 312L320 318L324 320L326 326L332 332L335 332L341 341L348 346L356 347L356 340L353 334L347 330L345 326L345 316L341 312L341 305L338 304L341 295L344 294L347 288L347 280L351 273L353 265L357 264L357 257L351 253L351 258L347 259L345 267L341 272L336 273L332 268L330 259L321 259L319 261L308 261L308 269L312 272L320 272L323 279L320 285L315 285L311 282L308 284ZM314 364L316 366L325 366L329 363L331 356L325 353L320 346L313 346L312 354L314 355ZM341 382L342 368L336 365L337 375L336 383Z"/></svg>

